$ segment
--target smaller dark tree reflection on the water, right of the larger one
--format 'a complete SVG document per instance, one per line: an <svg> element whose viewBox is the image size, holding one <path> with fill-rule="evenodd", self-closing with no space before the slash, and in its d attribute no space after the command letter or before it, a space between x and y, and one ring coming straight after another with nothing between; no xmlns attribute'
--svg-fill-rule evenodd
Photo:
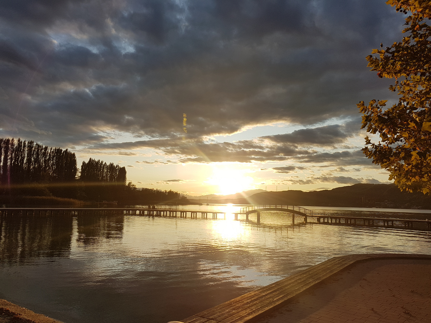
<svg viewBox="0 0 431 323"><path fill-rule="evenodd" d="M123 237L123 215L78 215L78 242L93 245L105 239L121 239Z"/></svg>

